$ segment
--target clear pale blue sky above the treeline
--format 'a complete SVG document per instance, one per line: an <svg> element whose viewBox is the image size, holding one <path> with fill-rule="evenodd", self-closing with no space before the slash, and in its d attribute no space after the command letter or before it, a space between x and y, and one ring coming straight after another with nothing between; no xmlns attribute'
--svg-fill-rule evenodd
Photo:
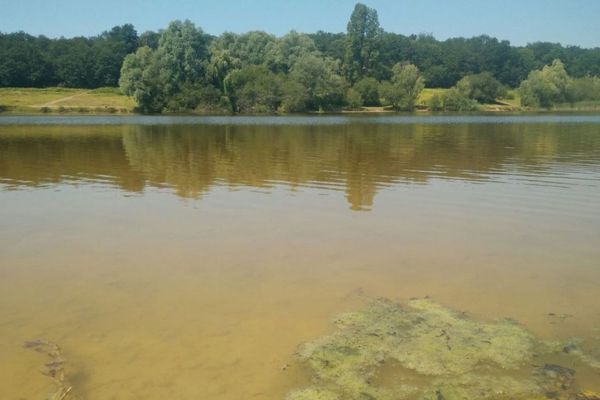
<svg viewBox="0 0 600 400"><path fill-rule="evenodd" d="M438 39L489 34L515 45L533 41L600 47L600 0L364 0L390 32ZM264 30L281 35L341 32L355 0L0 0L0 31L49 37L91 36L132 23L138 32L190 19L204 31Z"/></svg>

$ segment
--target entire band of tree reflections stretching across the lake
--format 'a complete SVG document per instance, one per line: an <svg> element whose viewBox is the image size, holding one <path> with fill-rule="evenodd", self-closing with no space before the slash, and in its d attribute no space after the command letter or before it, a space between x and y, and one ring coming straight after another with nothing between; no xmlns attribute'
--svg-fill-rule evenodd
<svg viewBox="0 0 600 400"><path fill-rule="evenodd" d="M214 185L283 184L345 190L352 209L377 191L432 178L469 181L494 173L598 162L594 125L182 125L28 127L0 130L0 179L109 179L140 191L173 187L199 197ZM20 129L20 128L19 128Z"/></svg>

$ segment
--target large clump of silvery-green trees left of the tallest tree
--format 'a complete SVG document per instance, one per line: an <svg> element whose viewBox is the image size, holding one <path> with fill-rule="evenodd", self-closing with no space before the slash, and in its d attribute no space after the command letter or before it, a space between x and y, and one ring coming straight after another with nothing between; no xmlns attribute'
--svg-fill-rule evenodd
<svg viewBox="0 0 600 400"><path fill-rule="evenodd" d="M224 34L207 47L201 30L174 22L158 48L143 47L123 64L121 88L144 112L206 108L201 93L214 87L210 107L234 112L290 112L342 107L347 85L339 62L323 57L311 38L291 32L281 39L263 32ZM150 101L149 94L157 96ZM226 101L223 101L226 97Z"/></svg>

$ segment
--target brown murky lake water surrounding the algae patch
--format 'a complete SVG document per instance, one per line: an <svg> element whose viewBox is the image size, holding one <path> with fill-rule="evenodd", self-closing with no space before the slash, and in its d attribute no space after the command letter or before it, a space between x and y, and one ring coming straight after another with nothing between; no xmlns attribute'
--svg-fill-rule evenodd
<svg viewBox="0 0 600 400"><path fill-rule="evenodd" d="M598 340L600 117L0 119L2 399L282 399L359 293Z"/></svg>

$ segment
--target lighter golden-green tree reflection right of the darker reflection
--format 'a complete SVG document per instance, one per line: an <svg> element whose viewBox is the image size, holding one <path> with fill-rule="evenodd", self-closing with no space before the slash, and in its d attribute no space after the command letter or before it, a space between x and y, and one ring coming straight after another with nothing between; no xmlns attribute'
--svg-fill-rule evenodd
<svg viewBox="0 0 600 400"><path fill-rule="evenodd" d="M124 146L150 184L181 196L215 184L322 186L345 190L359 210L398 182L483 180L509 163L547 168L558 156L600 150L589 130L572 128L581 135L558 125L140 126Z"/></svg>

